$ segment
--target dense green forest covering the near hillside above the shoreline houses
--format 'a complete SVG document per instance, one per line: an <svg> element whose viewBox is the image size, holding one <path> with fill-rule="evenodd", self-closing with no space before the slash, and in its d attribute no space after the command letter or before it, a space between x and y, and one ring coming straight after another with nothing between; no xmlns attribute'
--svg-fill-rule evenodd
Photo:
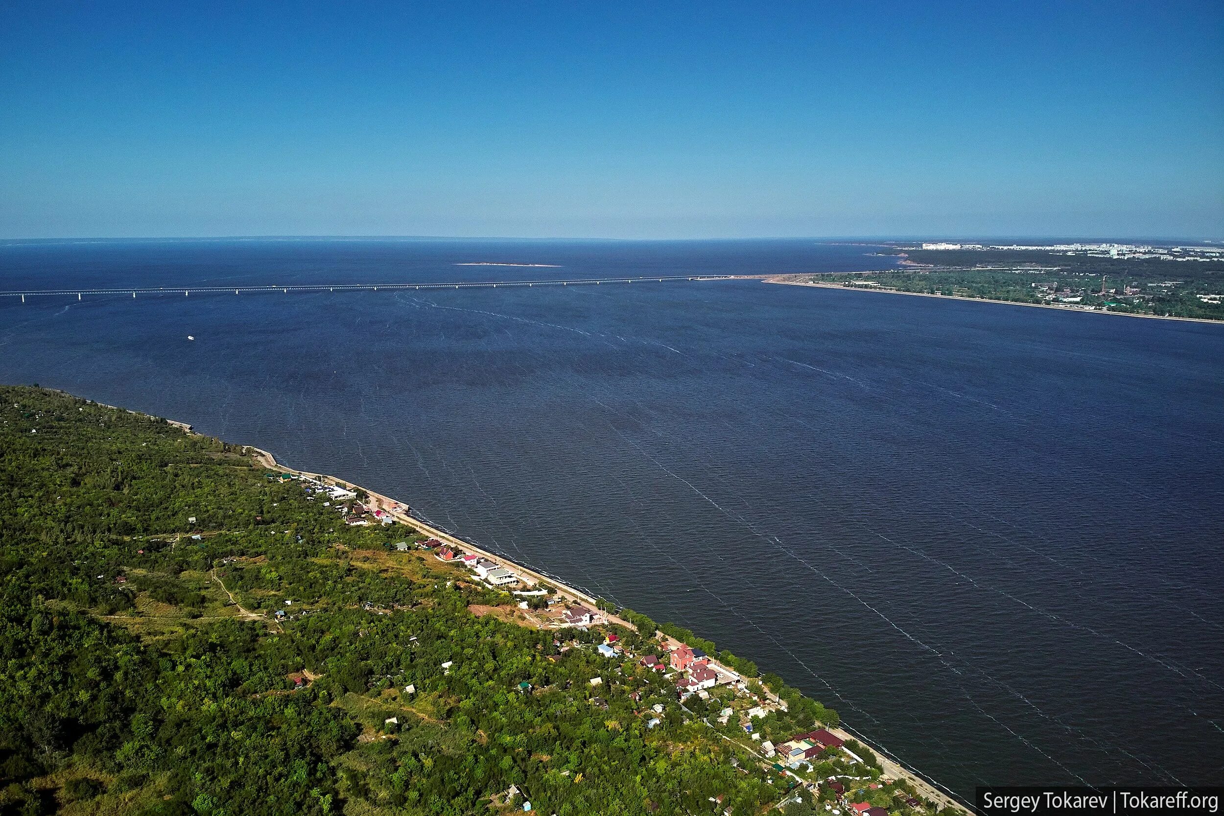
<svg viewBox="0 0 1224 816"><path fill-rule="evenodd" d="M813 806L705 716L717 699L601 656L610 630L528 625L241 448L0 387L0 814ZM627 614L644 653L652 621ZM763 679L791 703L766 736L836 723Z"/></svg>

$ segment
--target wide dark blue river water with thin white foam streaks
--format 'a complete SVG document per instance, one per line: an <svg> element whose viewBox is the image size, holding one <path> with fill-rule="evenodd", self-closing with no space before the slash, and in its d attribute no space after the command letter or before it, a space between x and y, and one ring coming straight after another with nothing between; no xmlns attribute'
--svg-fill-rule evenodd
<svg viewBox="0 0 1224 816"><path fill-rule="evenodd" d="M887 264L870 251L10 245L0 289ZM479 261L559 268L453 265ZM962 796L1224 778L1224 325L758 281L0 299L0 380L406 499L753 657Z"/></svg>

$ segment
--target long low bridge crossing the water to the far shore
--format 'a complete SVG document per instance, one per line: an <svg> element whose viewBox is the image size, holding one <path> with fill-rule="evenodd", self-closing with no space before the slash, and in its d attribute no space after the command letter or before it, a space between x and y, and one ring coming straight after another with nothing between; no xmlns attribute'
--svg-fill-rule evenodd
<svg viewBox="0 0 1224 816"><path fill-rule="evenodd" d="M126 286L118 289L31 289L0 291L0 297L76 296L86 295L251 295L263 292L346 292L346 291L415 291L431 289L497 289L498 286L595 286L602 284L676 283L687 280L763 280L766 275L652 275L639 278L569 278L561 280L450 280L417 284L284 284L261 286Z"/></svg>

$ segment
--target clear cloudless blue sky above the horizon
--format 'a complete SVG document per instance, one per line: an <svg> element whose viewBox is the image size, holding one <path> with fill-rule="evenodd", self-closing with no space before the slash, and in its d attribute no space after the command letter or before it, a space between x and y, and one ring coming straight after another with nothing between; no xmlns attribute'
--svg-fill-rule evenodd
<svg viewBox="0 0 1224 816"><path fill-rule="evenodd" d="M0 2L0 236L1224 237L1224 2Z"/></svg>

